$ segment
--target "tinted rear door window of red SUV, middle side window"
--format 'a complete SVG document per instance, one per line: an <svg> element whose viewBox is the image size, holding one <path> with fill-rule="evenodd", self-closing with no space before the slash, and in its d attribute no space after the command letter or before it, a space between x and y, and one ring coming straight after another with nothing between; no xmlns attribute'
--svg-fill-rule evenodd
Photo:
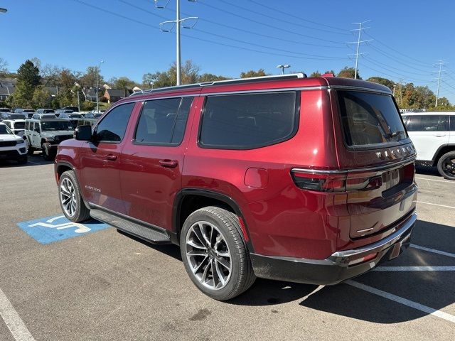
<svg viewBox="0 0 455 341"><path fill-rule="evenodd" d="M154 99L142 108L135 141L139 144L180 144L193 97Z"/></svg>

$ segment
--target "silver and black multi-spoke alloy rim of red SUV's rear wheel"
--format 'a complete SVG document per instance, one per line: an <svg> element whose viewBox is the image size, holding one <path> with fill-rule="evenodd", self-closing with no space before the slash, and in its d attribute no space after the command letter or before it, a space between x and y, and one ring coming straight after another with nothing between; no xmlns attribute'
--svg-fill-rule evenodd
<svg viewBox="0 0 455 341"><path fill-rule="evenodd" d="M224 288L232 272L231 254L225 237L210 222L196 222L186 234L186 259L193 275L206 288Z"/></svg>

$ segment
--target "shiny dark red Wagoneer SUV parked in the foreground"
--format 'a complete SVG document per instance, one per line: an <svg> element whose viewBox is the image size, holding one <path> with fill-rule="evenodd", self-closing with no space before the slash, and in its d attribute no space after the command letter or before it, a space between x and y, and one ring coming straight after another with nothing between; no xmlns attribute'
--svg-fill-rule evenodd
<svg viewBox="0 0 455 341"><path fill-rule="evenodd" d="M178 244L217 300L336 284L410 244L415 151L387 87L302 74L140 92L58 146L65 216Z"/></svg>

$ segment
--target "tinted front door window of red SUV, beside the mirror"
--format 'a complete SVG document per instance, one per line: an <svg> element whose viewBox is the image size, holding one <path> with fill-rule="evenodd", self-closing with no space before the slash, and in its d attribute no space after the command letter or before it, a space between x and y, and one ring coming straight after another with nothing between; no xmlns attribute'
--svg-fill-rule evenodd
<svg viewBox="0 0 455 341"><path fill-rule="evenodd" d="M134 103L127 103L112 109L97 125L96 140L104 142L122 141L133 108Z"/></svg>

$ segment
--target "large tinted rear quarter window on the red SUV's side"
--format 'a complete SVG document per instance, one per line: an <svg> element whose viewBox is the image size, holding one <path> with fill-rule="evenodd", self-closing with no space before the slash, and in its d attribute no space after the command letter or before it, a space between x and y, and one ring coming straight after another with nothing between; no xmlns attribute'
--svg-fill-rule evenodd
<svg viewBox="0 0 455 341"><path fill-rule="evenodd" d="M228 94L207 97L200 146L252 149L294 136L298 92Z"/></svg>

